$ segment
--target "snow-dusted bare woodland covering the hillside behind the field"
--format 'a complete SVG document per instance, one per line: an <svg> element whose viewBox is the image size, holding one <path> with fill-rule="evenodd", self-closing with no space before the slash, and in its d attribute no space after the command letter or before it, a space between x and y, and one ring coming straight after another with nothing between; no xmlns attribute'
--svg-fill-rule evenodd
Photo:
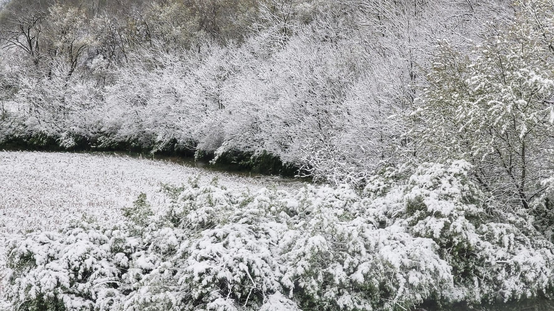
<svg viewBox="0 0 554 311"><path fill-rule="evenodd" d="M279 161L334 182L406 157L482 150L477 159L496 144L475 145L485 133L458 149L420 144L444 128L430 126L435 114L456 128L471 118L448 109L455 98L431 106L489 68L490 82L519 83L504 80L500 63L513 70L548 57L549 14L547 2L476 0L11 1L0 17L0 141ZM506 58L520 40L525 57ZM452 72L458 82L433 87ZM418 108L428 113L407 117Z"/></svg>

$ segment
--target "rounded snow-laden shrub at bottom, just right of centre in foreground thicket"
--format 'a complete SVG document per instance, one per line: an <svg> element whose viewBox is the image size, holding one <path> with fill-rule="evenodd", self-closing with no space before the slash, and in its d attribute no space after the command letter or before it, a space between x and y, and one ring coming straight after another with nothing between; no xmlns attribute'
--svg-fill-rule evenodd
<svg viewBox="0 0 554 311"><path fill-rule="evenodd" d="M311 213L283 245L283 282L296 289L302 307L396 310L435 296L434 288L451 287L451 268L432 240L413 238L399 226L379 229L363 212Z"/></svg>

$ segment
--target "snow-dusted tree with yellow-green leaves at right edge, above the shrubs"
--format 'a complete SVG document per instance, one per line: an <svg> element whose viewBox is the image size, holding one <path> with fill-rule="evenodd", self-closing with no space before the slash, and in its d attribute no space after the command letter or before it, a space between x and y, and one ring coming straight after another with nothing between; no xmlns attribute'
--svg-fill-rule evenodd
<svg viewBox="0 0 554 311"><path fill-rule="evenodd" d="M528 208L551 175L554 72L541 33L525 22L470 55L444 44L412 133L420 155L468 159L481 186Z"/></svg>

